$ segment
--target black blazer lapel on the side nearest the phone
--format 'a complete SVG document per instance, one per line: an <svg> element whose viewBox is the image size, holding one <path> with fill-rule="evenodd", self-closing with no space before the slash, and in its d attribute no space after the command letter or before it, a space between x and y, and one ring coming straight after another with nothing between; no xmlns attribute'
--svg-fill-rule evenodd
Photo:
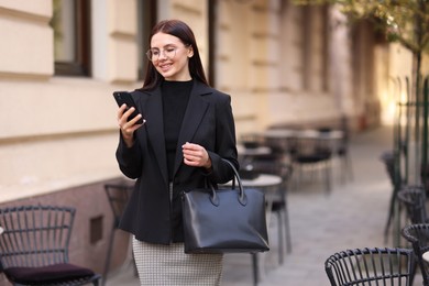
<svg viewBox="0 0 429 286"><path fill-rule="evenodd" d="M154 91L150 91L148 94L151 96L147 97L147 101L144 105L143 110L144 118L146 119L145 128L147 130L147 138L151 141L151 146L153 147L161 173L165 182L168 182L161 89L156 88Z"/></svg>

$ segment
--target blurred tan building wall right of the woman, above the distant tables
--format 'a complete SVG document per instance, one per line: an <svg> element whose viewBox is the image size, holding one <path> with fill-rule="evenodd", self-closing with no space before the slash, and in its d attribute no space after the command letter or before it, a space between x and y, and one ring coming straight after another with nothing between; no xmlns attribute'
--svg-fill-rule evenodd
<svg viewBox="0 0 429 286"><path fill-rule="evenodd" d="M336 37L323 33L323 21L329 20L322 18L321 9L304 14L302 8L288 1L221 1L218 14L218 42L222 43L218 88L233 96L239 135L278 122L329 120L350 112L339 107L336 91L341 88L343 101L351 97L344 92L351 85L350 61L337 61L338 68L346 72L341 74L342 86L327 82L329 89L323 89L323 63L329 73L334 57L349 57L344 51L349 38L338 30L330 32ZM307 33L302 23L308 19L312 20ZM324 37L336 43L323 46ZM304 45L308 45L307 54ZM330 45L343 53L330 53Z"/></svg>

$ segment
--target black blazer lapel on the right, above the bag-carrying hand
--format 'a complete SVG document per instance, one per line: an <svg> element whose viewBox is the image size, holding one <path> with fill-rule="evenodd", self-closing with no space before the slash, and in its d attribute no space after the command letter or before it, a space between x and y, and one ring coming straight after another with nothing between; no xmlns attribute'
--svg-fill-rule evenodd
<svg viewBox="0 0 429 286"><path fill-rule="evenodd" d="M199 123L201 122L201 119L209 107L209 103L201 98L204 94L210 92L209 89L198 81L194 82L195 84L189 96L188 106L186 108L184 121L182 122L180 133L177 141L174 174L176 174L183 162L182 145L186 142L193 141L194 134L197 131Z"/></svg>

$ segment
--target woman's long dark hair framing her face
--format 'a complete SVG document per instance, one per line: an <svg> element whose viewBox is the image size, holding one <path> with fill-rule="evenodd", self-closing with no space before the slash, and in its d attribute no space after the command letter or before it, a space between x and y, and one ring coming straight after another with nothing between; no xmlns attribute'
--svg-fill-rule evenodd
<svg viewBox="0 0 429 286"><path fill-rule="evenodd" d="M206 85L209 85L206 78L201 58L198 52L197 41L195 40L193 30L190 30L190 28L180 20L164 20L157 23L152 29L150 40L152 40L153 35L160 32L174 35L178 37L186 46L193 47L194 55L193 57L189 58L190 76L194 79L197 79ZM144 78L142 89L143 90L153 89L161 82L161 80L163 80L161 74L156 70L156 68L151 62L147 62L146 76Z"/></svg>

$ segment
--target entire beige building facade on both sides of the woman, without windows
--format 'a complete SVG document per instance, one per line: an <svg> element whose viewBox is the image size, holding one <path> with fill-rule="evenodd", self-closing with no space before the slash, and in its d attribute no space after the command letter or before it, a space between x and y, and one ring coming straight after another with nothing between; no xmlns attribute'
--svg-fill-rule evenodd
<svg viewBox="0 0 429 286"><path fill-rule="evenodd" d="M141 85L138 6L136 0L91 3L92 77L76 78L53 75L52 1L0 0L0 34L9 38L0 45L0 202L121 176L111 92ZM206 67L207 13L206 1L158 1L158 19L179 18L194 29ZM343 20L334 10L328 20L319 8L306 13L289 1L219 0L216 87L232 96L238 136L275 123L363 112L367 90L355 92L351 35L338 24ZM362 46L371 47L365 34L361 37ZM378 66L385 65L380 58L393 63L388 70L371 70L380 80L407 69L399 66L407 61L396 61L404 54L396 50L375 52ZM371 64L362 63L359 73ZM388 86L376 86L383 88ZM371 100L378 92L372 90Z"/></svg>

